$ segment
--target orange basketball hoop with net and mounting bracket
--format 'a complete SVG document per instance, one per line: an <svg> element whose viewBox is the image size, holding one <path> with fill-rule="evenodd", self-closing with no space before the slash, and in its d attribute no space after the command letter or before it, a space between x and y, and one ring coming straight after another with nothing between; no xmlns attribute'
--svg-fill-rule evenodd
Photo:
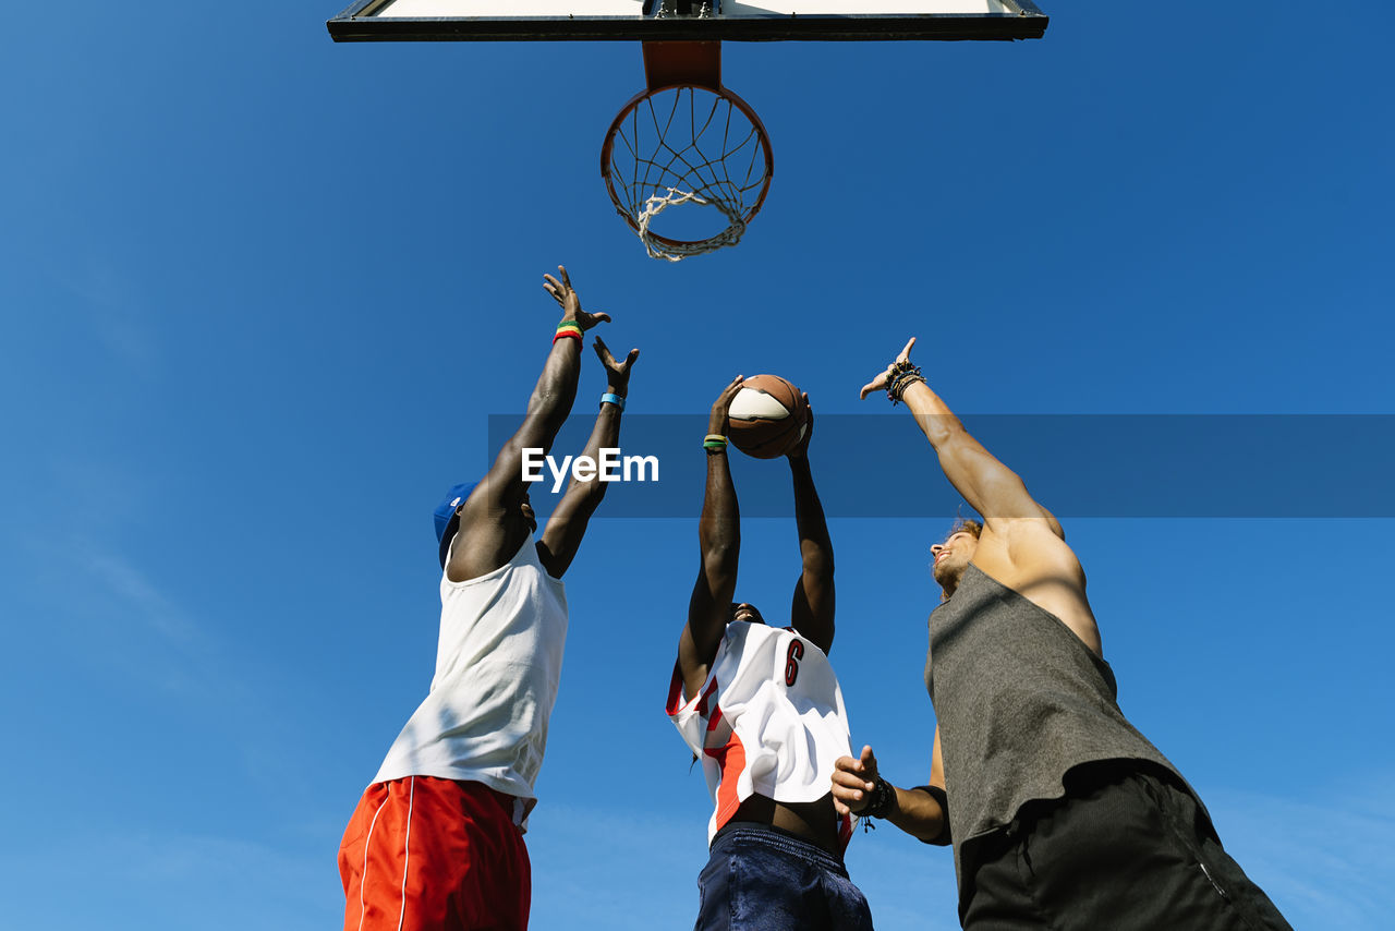
<svg viewBox="0 0 1395 931"><path fill-rule="evenodd" d="M720 42L644 42L643 49L649 87L621 109L601 147L611 201L651 258L677 262L735 246L770 188L766 127L721 87ZM692 207L711 218L699 233L654 232L660 214Z"/></svg>

